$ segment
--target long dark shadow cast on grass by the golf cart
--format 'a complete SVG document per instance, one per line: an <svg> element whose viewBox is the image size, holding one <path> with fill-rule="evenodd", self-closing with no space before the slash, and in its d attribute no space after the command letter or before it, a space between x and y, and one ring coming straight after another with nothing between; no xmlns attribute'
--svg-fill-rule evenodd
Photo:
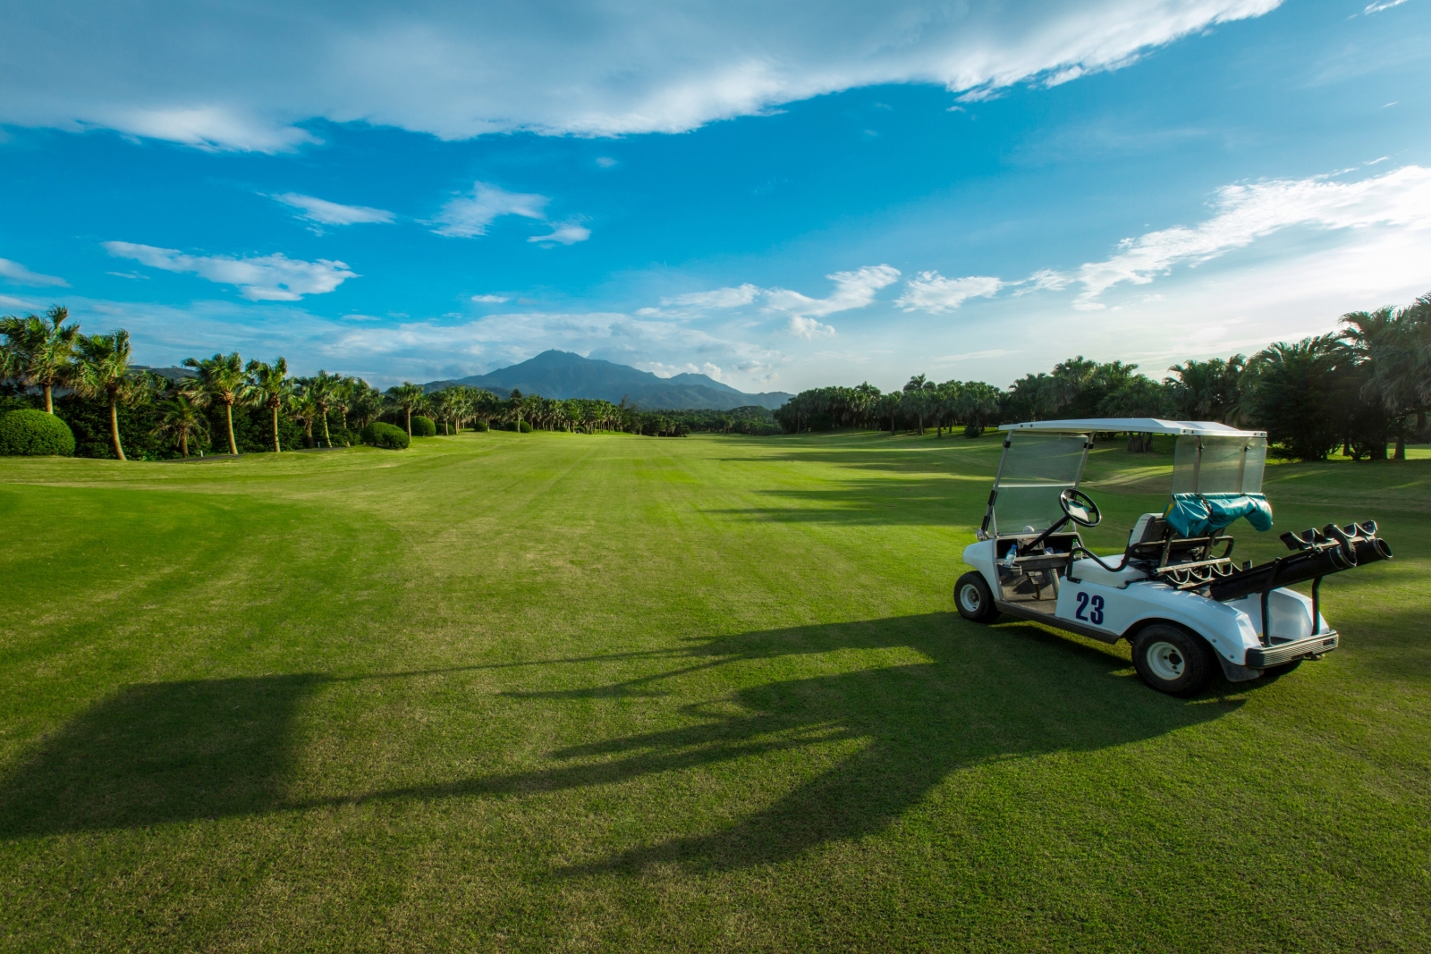
<svg viewBox="0 0 1431 954"><path fill-rule="evenodd" d="M1126 745L1219 718L1239 705L1158 695L1126 675L1126 661L1103 649L1025 624L972 626L952 614L694 639L650 654L654 671L640 678L508 695L550 707L668 694L680 689L683 677L701 669L850 649L904 649L899 658L906 662L748 685L684 707L684 725L561 748L537 771L309 801L285 797L295 775L290 737L303 699L331 679L301 675L133 687L77 718L0 781L0 837L343 804L525 797L831 741L853 745L843 761L718 831L633 848L562 874L653 864L721 870L778 862L830 841L879 832L960 768ZM877 661L873 657L866 665ZM761 674L758 667L747 671L754 678ZM409 674L358 678L404 675ZM788 761L774 771L801 774L800 764Z"/></svg>

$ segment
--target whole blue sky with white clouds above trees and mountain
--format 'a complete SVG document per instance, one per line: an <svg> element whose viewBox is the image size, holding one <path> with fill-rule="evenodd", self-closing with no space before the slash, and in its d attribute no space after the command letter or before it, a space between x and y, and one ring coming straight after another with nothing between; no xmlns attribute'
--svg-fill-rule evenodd
<svg viewBox="0 0 1431 954"><path fill-rule="evenodd" d="M145 363L1006 385L1431 292L1428 0L30 6L0 310Z"/></svg>

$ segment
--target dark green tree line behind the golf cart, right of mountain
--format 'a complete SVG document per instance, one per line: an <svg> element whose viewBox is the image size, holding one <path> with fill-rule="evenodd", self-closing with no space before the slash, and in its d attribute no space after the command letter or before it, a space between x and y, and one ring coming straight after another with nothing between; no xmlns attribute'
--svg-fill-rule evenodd
<svg viewBox="0 0 1431 954"><path fill-rule="evenodd" d="M1349 312L1342 330L1276 342L1256 352L1186 360L1162 380L1138 365L1070 358L1007 389L985 382L936 383L916 375L881 393L869 383L814 388L776 410L786 432L836 428L899 429L936 436L1016 421L1165 418L1218 421L1268 432L1286 458L1324 461L1338 446L1352 459L1405 459L1408 439L1428 441L1431 295L1407 308ZM1130 433L1129 449L1152 448Z"/></svg>

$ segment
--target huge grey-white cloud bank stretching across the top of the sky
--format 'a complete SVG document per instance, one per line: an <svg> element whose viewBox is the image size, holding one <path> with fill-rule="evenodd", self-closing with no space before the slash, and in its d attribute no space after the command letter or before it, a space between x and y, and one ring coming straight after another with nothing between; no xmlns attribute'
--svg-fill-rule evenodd
<svg viewBox="0 0 1431 954"><path fill-rule="evenodd" d="M881 83L1066 82L1278 3L10 4L0 36L27 69L7 76L0 123L258 152L315 142L309 119L444 139L674 133Z"/></svg>

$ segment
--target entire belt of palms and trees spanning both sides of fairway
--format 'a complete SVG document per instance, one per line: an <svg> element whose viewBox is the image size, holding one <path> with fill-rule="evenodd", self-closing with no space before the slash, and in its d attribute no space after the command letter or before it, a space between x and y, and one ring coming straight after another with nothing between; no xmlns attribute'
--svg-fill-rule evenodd
<svg viewBox="0 0 1431 954"><path fill-rule="evenodd" d="M1278 342L1251 358L1186 360L1162 380L1123 362L1083 356L1029 373L1009 388L916 375L899 390L816 388L776 412L643 410L610 400L512 390L498 398L452 385L428 392L404 382L379 392L343 375L302 378L288 362L243 362L238 352L189 358L179 369L132 363L129 333L83 335L63 306L43 316L0 318L0 410L43 406L74 432L83 456L189 456L348 446L373 421L414 436L461 433L465 426L512 431L618 431L684 436L705 431L764 435L836 428L900 428L936 436L962 428L979 436L1012 421L1056 418L1169 418L1265 429L1276 451L1325 459L1339 445L1354 459L1405 458L1408 439L1427 441L1431 405L1431 295L1407 308L1351 312L1342 330ZM1129 449L1151 449L1129 435Z"/></svg>

